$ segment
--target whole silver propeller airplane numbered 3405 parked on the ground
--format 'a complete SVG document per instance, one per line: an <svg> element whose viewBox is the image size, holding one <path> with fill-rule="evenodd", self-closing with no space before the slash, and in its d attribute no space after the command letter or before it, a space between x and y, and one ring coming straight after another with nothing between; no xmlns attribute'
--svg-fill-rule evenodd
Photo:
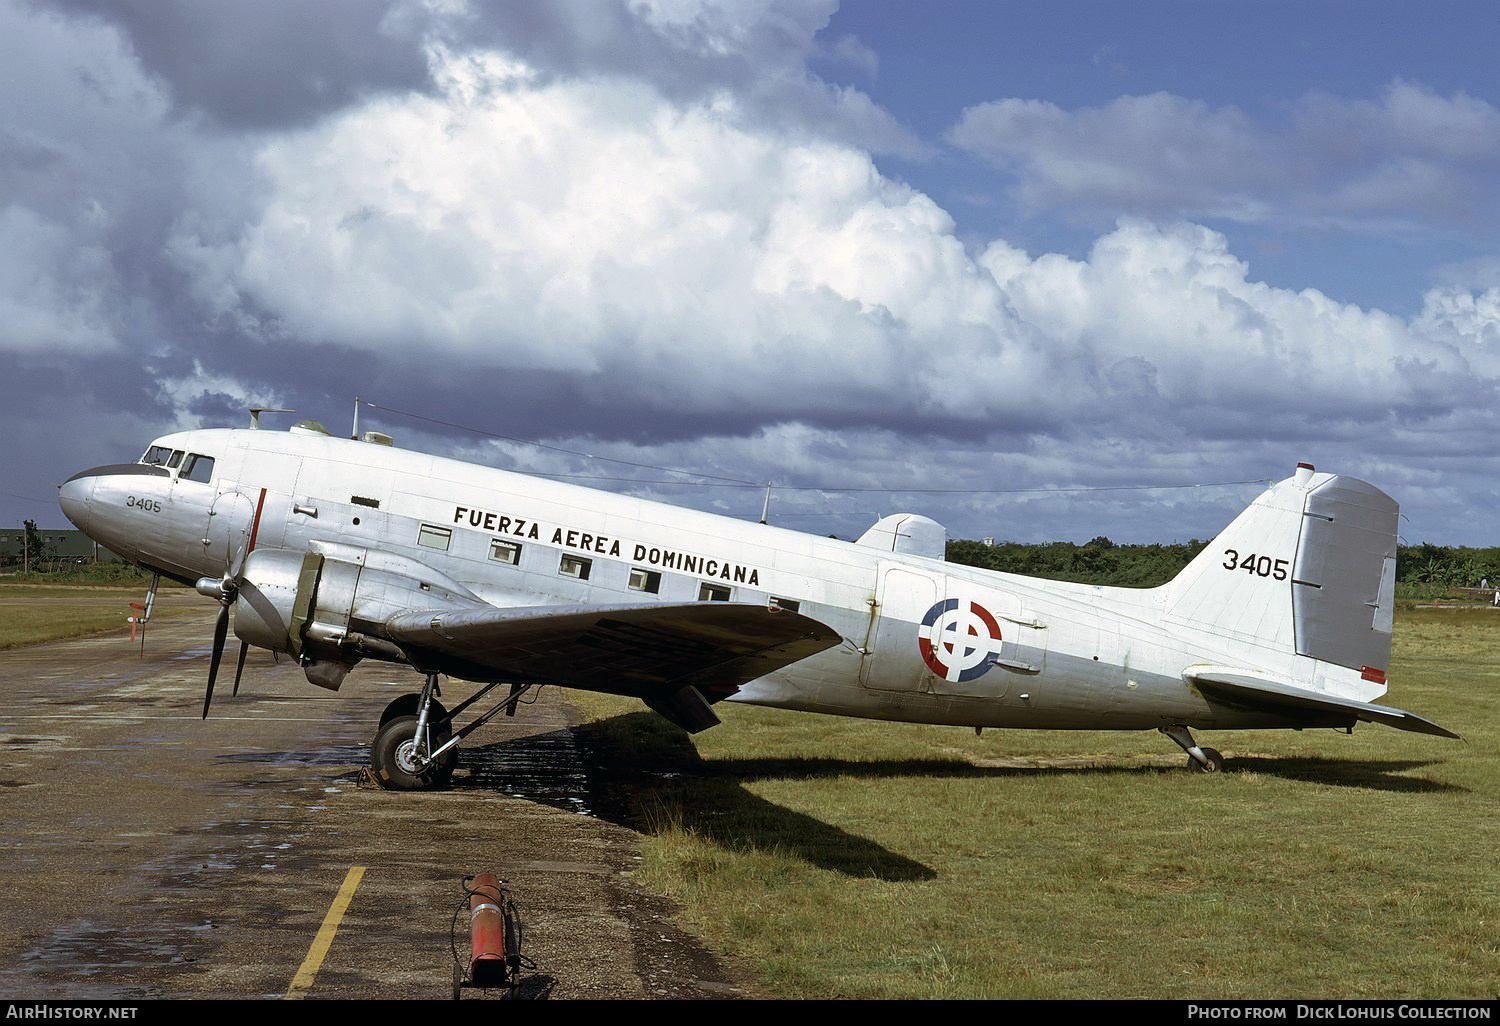
<svg viewBox="0 0 1500 1026"><path fill-rule="evenodd" d="M1268 488L1172 582L1106 588L944 560L946 531L856 542L398 448L388 435L198 429L58 486L102 546L219 603L248 646L338 690L360 660L424 684L382 712L370 768L444 786L458 742L534 687L634 696L688 732L722 700L915 723L1194 729L1358 722L1456 738L1386 692L1396 502L1352 477ZM148 603L147 603L148 604ZM236 670L236 688L238 688ZM446 675L478 684L452 711ZM458 717L507 686L459 728Z"/></svg>

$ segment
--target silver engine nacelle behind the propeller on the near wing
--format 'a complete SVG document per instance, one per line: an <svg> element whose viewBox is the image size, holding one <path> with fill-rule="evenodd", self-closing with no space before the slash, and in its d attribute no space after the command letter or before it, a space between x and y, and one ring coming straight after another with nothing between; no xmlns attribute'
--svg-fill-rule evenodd
<svg viewBox="0 0 1500 1026"><path fill-rule="evenodd" d="M312 550L256 549L234 602L234 636L290 652L318 687L338 690L360 658L402 660L382 636L394 614L484 604L432 567L388 552L314 543Z"/></svg>

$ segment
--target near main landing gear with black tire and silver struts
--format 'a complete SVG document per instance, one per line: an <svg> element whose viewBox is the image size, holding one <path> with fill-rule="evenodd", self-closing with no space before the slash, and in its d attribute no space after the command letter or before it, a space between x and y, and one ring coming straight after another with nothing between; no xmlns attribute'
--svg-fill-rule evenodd
<svg viewBox="0 0 1500 1026"><path fill-rule="evenodd" d="M496 687L500 684L484 684L448 712L438 700L438 675L428 674L420 694L402 694L387 705L370 742L370 770L380 784L390 790L432 790L446 786L459 762L459 741L501 711L514 716L516 704L532 686L512 684L504 702L454 732L453 717Z"/></svg>

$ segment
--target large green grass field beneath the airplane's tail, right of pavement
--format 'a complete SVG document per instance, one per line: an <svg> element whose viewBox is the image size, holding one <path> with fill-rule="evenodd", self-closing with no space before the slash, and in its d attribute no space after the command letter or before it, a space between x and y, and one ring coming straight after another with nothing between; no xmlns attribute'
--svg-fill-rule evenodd
<svg viewBox="0 0 1500 1026"><path fill-rule="evenodd" d="M1492 998L1500 615L1406 610L1360 726L986 730L585 696L640 880L784 998ZM720 706L724 710L724 706Z"/></svg>

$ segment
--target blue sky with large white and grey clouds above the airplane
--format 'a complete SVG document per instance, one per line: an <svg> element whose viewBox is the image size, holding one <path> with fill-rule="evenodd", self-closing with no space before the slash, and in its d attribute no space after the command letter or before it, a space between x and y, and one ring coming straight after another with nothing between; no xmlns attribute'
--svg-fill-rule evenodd
<svg viewBox="0 0 1500 1026"><path fill-rule="evenodd" d="M820 534L1209 537L1310 460L1496 544L1497 52L1442 0L0 0L0 524L360 396Z"/></svg>

